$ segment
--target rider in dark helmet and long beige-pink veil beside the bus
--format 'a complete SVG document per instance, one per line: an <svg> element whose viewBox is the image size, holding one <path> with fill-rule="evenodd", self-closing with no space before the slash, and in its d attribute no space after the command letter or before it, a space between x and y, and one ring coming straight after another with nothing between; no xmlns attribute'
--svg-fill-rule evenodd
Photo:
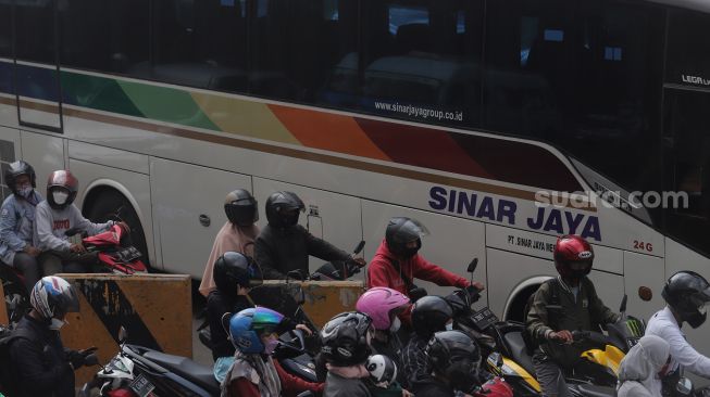
<svg viewBox="0 0 710 397"><path fill-rule="evenodd" d="M224 213L227 221L217 232L212 244L212 252L204 266L200 282L200 293L209 296L216 289L212 272L217 258L226 252L241 253L253 257L253 242L259 234L257 200L245 189L237 189L224 198ZM236 312L236 311L233 311Z"/></svg>

